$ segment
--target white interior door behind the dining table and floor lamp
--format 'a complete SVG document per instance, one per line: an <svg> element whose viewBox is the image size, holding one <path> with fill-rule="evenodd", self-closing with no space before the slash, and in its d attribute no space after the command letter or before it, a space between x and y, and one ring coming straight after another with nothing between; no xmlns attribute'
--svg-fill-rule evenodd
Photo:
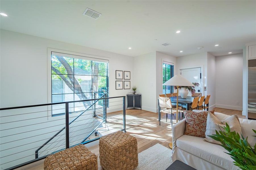
<svg viewBox="0 0 256 170"><path fill-rule="evenodd" d="M196 93L202 93L201 92L201 68L190 68L190 69L180 69L180 74L190 82L197 82L200 85L198 87L195 87ZM191 96L191 93L189 92L188 95Z"/></svg>

